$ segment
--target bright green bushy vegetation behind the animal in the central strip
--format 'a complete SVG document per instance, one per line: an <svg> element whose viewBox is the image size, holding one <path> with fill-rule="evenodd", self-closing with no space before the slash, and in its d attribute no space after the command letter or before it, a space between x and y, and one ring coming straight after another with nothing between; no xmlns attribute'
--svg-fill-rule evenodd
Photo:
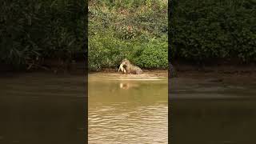
<svg viewBox="0 0 256 144"><path fill-rule="evenodd" d="M118 67L123 58L166 69L167 17L165 0L89 1L89 70Z"/></svg>

